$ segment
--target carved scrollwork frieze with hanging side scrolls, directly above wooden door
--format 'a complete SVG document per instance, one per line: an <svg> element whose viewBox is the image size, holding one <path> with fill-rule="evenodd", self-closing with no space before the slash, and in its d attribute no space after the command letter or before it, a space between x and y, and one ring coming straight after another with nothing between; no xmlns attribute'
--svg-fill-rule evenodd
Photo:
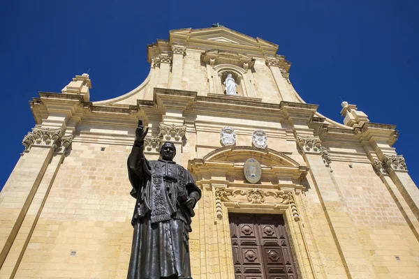
<svg viewBox="0 0 419 279"><path fill-rule="evenodd" d="M226 188L217 188L215 190L215 205L217 218L223 218L223 209L221 202L233 203L240 207L244 204L272 204L274 209L281 205L291 206L291 212L295 221L300 220L297 211L297 205L291 192L272 192L270 190L249 189L233 190Z"/></svg>

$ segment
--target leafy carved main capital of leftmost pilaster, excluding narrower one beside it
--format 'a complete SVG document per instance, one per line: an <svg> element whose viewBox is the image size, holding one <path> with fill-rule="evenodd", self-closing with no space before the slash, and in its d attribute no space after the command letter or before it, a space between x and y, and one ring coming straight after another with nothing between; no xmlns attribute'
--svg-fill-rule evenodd
<svg viewBox="0 0 419 279"><path fill-rule="evenodd" d="M24 136L22 144L24 150L29 151L32 146L50 146L53 150L57 149L57 140L61 137L61 128L50 129L50 128L32 128L32 132L29 132Z"/></svg>

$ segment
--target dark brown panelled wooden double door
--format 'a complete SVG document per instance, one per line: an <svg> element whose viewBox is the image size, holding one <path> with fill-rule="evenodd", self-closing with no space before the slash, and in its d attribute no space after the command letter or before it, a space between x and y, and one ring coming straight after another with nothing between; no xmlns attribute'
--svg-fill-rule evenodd
<svg viewBox="0 0 419 279"><path fill-rule="evenodd" d="M229 213L235 279L297 279L284 218Z"/></svg>

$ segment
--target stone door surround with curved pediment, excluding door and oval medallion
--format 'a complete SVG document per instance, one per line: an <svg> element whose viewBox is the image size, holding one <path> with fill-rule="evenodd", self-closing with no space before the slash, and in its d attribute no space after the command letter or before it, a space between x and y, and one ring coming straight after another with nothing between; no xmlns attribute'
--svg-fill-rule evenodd
<svg viewBox="0 0 419 279"><path fill-rule="evenodd" d="M262 179L258 183L248 183L244 178L248 158L255 158L261 165ZM284 216L298 278L317 278L306 241L310 232L304 229L304 214L298 206L307 166L272 149L225 146L203 159L189 160L188 169L203 190L196 222L200 227L201 276L207 274L207 266L212 266L213 274L235 278L228 214L263 213Z"/></svg>

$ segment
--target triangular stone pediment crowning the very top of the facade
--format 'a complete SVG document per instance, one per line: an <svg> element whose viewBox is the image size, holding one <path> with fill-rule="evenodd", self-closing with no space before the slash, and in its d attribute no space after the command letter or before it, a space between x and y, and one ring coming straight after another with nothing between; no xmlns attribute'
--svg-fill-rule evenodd
<svg viewBox="0 0 419 279"><path fill-rule="evenodd" d="M273 56L278 50L277 44L247 36L227 27L172 30L169 33L169 42L200 49L243 50L251 54Z"/></svg>

